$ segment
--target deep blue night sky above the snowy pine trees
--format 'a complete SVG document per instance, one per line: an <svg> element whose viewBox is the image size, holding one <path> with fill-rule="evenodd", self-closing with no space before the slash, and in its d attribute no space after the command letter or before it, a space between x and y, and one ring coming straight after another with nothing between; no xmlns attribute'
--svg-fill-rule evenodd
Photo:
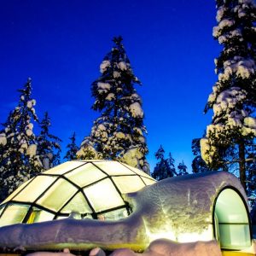
<svg viewBox="0 0 256 256"><path fill-rule="evenodd" d="M191 170L191 140L201 137L211 114L203 115L217 76L212 38L215 2L205 0L1 0L0 122L18 103L32 78L36 112L52 120L50 131L63 140L89 134L98 116L90 106L90 84L121 35L135 75L143 82L148 161L160 144Z"/></svg>

